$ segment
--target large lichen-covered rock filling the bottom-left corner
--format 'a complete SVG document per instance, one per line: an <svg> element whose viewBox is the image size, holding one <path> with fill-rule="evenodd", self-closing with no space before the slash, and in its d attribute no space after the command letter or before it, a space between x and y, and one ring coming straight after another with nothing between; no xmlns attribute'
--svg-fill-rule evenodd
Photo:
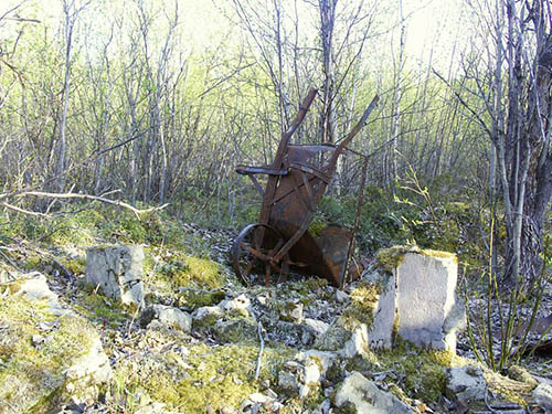
<svg viewBox="0 0 552 414"><path fill-rule="evenodd" d="M56 317L52 295L0 297L0 413L49 413L72 397L93 402L112 378L98 333L74 312Z"/></svg>

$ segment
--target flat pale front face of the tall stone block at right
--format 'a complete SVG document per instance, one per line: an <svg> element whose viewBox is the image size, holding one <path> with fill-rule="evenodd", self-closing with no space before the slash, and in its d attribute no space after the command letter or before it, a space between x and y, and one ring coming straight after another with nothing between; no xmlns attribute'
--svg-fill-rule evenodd
<svg viewBox="0 0 552 414"><path fill-rule="evenodd" d="M456 315L457 262L452 254L405 253L395 269L397 333L420 347L456 351L456 335L445 331ZM453 318L454 319L454 318ZM456 323L448 322L446 328Z"/></svg>

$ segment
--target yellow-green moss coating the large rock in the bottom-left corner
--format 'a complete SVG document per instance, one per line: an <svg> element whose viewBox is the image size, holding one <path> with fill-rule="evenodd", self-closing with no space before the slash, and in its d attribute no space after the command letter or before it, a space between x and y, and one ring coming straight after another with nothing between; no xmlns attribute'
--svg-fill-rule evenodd
<svg viewBox="0 0 552 414"><path fill-rule="evenodd" d="M0 298L0 322L8 326L0 337L0 402L50 412L65 397L62 372L92 344L92 327L73 315L55 318L44 301L21 296Z"/></svg>

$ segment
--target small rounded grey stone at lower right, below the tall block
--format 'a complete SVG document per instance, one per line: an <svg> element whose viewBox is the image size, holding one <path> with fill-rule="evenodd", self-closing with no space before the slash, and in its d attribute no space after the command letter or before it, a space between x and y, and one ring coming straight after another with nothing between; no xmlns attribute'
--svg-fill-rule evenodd
<svg viewBox="0 0 552 414"><path fill-rule="evenodd" d="M447 395L464 401L485 400L487 382L477 367L454 367L447 371Z"/></svg>

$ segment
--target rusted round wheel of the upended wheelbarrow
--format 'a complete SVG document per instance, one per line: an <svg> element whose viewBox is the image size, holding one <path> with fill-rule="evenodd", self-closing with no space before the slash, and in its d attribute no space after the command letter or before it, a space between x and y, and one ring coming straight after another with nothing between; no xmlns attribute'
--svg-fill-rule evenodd
<svg viewBox="0 0 552 414"><path fill-rule="evenodd" d="M272 257L283 245L284 238L276 229L268 224L250 224L232 244L232 267L246 285L252 283L253 274L263 273L268 285L274 270L282 273L280 266L273 263Z"/></svg>

